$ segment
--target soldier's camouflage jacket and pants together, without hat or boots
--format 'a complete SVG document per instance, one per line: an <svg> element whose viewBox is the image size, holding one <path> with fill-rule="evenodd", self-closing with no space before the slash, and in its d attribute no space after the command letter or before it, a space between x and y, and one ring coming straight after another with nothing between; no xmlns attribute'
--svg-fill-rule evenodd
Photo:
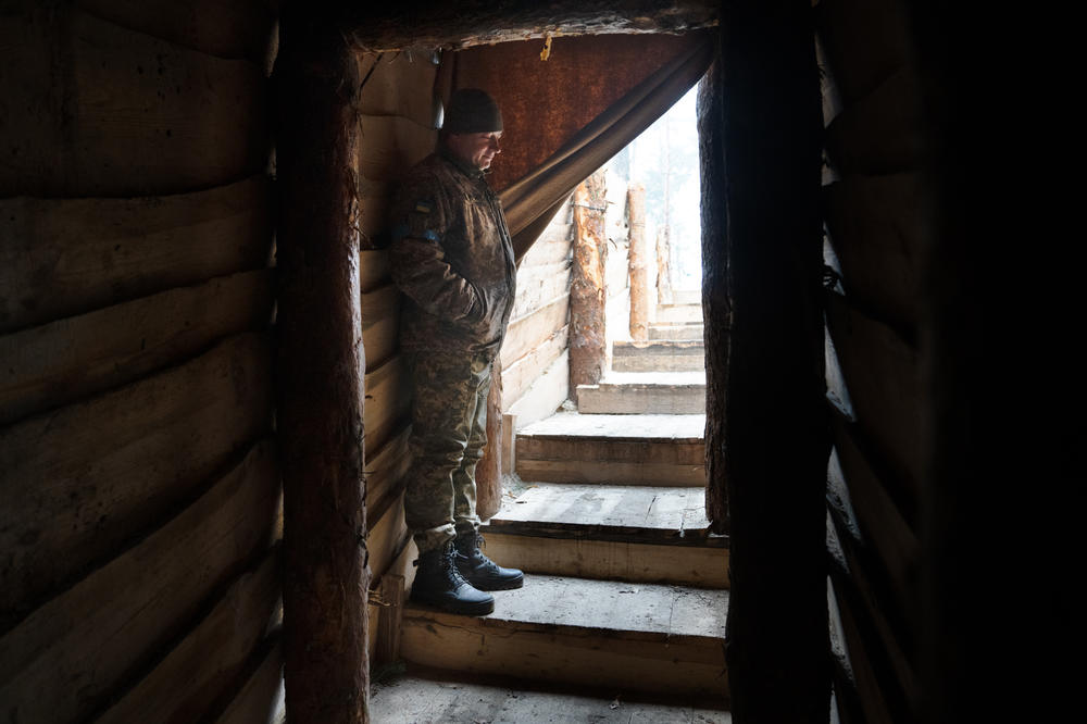
<svg viewBox="0 0 1087 724"><path fill-rule="evenodd" d="M475 467L516 267L483 172L442 149L409 172L390 222L392 278L408 298L400 346L415 385L404 513L422 553L479 525Z"/></svg>

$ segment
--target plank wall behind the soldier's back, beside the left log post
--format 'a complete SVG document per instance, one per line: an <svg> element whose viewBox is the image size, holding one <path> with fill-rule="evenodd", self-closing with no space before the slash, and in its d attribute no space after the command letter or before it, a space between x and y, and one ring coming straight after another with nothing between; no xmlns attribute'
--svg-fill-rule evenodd
<svg viewBox="0 0 1087 724"><path fill-rule="evenodd" d="M359 258L362 340L366 359L363 423L366 451L366 549L371 569L370 658L375 671L395 656L398 611L382 591L414 574L414 545L403 517L404 475L411 462L411 379L400 353L401 295L389 273L387 213L397 183L434 150L434 88L438 66L428 54L360 53ZM385 633L383 633L385 632Z"/></svg>

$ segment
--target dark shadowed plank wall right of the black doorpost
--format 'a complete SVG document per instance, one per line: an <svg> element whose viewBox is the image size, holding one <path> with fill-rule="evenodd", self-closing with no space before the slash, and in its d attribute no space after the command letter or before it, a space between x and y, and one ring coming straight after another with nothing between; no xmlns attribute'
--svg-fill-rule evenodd
<svg viewBox="0 0 1087 724"><path fill-rule="evenodd" d="M828 541L844 722L915 721L919 509L920 97L897 0L817 7L829 284Z"/></svg>

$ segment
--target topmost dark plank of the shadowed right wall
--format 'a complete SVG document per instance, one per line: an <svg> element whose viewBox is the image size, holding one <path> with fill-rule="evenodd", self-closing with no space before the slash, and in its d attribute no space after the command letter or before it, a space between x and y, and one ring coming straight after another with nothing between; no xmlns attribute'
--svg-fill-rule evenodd
<svg viewBox="0 0 1087 724"><path fill-rule="evenodd" d="M909 23L900 0L823 0L819 33L840 92L855 101L905 65Z"/></svg>

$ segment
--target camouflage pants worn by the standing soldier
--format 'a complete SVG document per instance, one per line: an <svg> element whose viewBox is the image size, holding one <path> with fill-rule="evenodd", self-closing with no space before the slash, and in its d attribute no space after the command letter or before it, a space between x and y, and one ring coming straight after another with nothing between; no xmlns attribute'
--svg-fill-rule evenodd
<svg viewBox="0 0 1087 724"><path fill-rule="evenodd" d="M486 354L414 352L415 385L404 517L420 552L479 527L475 469L487 445Z"/></svg>

